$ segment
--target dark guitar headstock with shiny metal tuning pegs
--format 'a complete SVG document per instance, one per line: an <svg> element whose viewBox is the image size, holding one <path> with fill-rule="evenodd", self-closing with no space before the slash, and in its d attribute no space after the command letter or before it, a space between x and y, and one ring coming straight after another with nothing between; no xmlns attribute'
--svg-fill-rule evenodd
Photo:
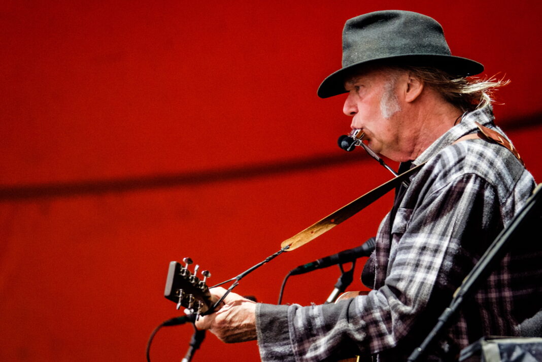
<svg viewBox="0 0 542 362"><path fill-rule="evenodd" d="M203 280L200 280L196 276L199 266L196 265L191 273L188 267L192 264L192 260L184 258L183 261L184 267L176 261L170 262L164 296L177 303L177 309L182 306L191 313L203 314L212 307L209 287L205 284L205 280L211 276L211 273L203 270L201 272Z"/></svg>

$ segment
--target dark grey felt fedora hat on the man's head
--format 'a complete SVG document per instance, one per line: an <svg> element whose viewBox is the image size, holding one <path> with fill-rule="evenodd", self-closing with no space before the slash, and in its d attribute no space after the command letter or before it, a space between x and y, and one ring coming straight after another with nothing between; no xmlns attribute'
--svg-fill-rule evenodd
<svg viewBox="0 0 542 362"><path fill-rule="evenodd" d="M444 31L433 18L412 11L375 11L346 22L343 68L324 79L318 96L346 93L345 77L370 64L433 66L457 76L483 71L482 64L451 55Z"/></svg>

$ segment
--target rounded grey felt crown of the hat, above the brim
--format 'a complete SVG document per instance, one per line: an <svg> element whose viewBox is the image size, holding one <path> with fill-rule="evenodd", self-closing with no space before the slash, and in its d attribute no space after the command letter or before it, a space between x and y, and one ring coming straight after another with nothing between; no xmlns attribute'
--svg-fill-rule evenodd
<svg viewBox="0 0 542 362"><path fill-rule="evenodd" d="M451 55L441 25L411 11L375 11L348 20L343 67L402 55Z"/></svg>

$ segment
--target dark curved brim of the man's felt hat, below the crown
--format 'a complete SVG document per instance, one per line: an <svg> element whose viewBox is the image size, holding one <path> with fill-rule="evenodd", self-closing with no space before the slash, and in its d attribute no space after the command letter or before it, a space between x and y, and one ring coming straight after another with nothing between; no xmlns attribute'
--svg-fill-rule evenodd
<svg viewBox="0 0 542 362"><path fill-rule="evenodd" d="M359 72L364 66L379 64L396 64L403 66L430 66L442 69L445 72L456 76L471 76L483 72L483 65L474 60L462 58L453 55L438 54L403 54L397 56L370 59L350 66L341 68L332 73L318 87L318 96L320 98L329 98L334 95L346 93L344 81L347 76Z"/></svg>

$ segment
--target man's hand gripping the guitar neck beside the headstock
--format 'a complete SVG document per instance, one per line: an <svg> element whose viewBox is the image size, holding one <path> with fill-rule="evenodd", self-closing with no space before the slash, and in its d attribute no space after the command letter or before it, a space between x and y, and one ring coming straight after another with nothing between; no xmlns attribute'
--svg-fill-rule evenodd
<svg viewBox="0 0 542 362"><path fill-rule="evenodd" d="M226 289L209 290L213 299L220 299ZM209 329L218 339L226 343L245 342L256 339L256 302L230 293L224 305L213 314L199 317L196 328Z"/></svg>

